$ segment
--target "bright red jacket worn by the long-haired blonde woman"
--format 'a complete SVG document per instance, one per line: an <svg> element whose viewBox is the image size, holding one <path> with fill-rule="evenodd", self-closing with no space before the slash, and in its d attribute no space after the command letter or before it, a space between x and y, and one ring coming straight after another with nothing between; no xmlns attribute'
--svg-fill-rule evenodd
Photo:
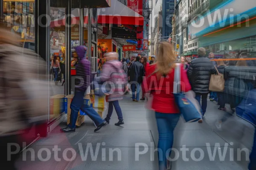
<svg viewBox="0 0 256 170"><path fill-rule="evenodd" d="M189 79L186 75L186 71L181 66L181 81L184 82L185 92L191 90ZM146 84L144 84L146 91L151 91L153 94L153 102L151 108L160 113L180 113L173 93L173 82L174 82L174 71L171 70L168 76L161 79L157 79L157 74L154 73L156 70L156 64L149 65L146 70ZM154 73L154 74L152 74ZM151 75L152 74L152 75ZM151 75L150 77L148 77Z"/></svg>

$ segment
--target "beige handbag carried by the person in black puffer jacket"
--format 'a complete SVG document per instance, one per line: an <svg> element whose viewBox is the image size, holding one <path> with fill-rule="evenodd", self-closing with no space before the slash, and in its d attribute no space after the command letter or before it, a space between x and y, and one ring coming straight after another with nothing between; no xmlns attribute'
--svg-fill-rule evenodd
<svg viewBox="0 0 256 170"><path fill-rule="evenodd" d="M224 75L219 73L217 68L216 68L216 71L218 74L211 75L209 91L222 92L224 91L224 85L225 85Z"/></svg>

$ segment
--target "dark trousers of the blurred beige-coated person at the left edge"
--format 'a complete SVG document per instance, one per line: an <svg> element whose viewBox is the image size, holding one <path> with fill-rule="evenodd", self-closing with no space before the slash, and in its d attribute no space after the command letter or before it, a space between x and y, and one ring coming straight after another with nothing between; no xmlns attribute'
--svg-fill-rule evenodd
<svg viewBox="0 0 256 170"><path fill-rule="evenodd" d="M2 170L17 170L15 168L15 161L17 160L20 152L20 142L18 136L4 136L0 137L0 164ZM13 143L13 144L11 144ZM17 147L15 146L17 144ZM11 152L8 152L10 148ZM16 153L15 153L16 151Z"/></svg>

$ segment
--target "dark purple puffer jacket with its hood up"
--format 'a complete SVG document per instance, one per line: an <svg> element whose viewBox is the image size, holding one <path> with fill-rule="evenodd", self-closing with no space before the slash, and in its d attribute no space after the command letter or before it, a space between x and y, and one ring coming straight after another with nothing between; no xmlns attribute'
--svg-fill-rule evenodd
<svg viewBox="0 0 256 170"><path fill-rule="evenodd" d="M76 65L75 91L86 91L93 76L90 70L90 61L85 58L87 47L79 45L76 47L78 64Z"/></svg>

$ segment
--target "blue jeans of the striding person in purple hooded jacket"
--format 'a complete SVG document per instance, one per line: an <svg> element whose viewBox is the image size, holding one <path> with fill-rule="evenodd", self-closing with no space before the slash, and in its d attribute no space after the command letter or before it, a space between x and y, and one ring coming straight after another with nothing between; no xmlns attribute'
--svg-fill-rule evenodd
<svg viewBox="0 0 256 170"><path fill-rule="evenodd" d="M75 91L75 95L70 104L70 109L70 124L68 126L72 129L76 128L76 119L80 109L84 111L90 117L90 119L93 120L96 126L99 126L104 122L99 114L91 106L84 105L84 91Z"/></svg>

